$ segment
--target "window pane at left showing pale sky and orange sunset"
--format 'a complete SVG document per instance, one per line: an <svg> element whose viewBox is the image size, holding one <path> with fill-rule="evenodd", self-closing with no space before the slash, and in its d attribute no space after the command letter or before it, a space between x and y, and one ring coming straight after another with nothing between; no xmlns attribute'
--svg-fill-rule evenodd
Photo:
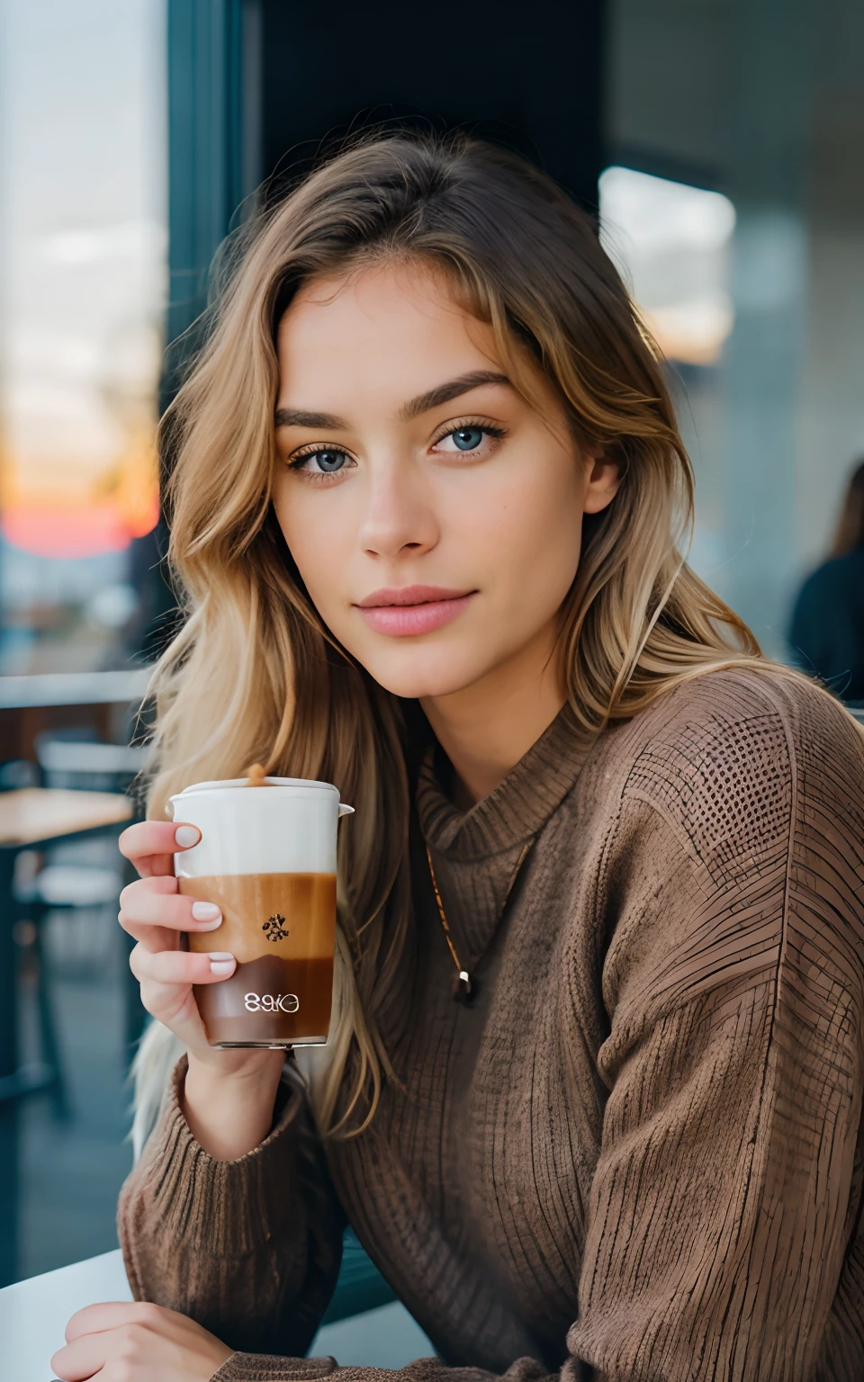
<svg viewBox="0 0 864 1382"><path fill-rule="evenodd" d="M6 0L0 673L120 665L158 517L162 0Z"/></svg>

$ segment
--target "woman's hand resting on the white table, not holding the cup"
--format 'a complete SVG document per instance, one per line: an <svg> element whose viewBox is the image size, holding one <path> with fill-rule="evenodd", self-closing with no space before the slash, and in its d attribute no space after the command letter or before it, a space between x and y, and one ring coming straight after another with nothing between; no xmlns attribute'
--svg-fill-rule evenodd
<svg viewBox="0 0 864 1382"><path fill-rule="evenodd" d="M177 1310L109 1302L72 1316L51 1367L62 1382L210 1382L232 1353Z"/></svg>

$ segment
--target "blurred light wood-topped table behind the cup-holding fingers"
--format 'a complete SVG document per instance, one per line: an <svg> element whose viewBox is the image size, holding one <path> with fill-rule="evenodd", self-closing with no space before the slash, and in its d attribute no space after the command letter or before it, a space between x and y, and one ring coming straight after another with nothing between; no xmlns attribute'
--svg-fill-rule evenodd
<svg viewBox="0 0 864 1382"><path fill-rule="evenodd" d="M0 1287L14 1278L18 1258L17 1101L40 1088L39 1078L29 1078L18 1060L15 858L22 849L48 849L116 829L133 810L129 797L115 792L0 792Z"/></svg>

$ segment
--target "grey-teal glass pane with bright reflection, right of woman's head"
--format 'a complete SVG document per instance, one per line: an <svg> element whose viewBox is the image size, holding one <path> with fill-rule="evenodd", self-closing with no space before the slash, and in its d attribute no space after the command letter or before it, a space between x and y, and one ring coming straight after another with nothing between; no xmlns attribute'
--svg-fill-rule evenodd
<svg viewBox="0 0 864 1382"><path fill-rule="evenodd" d="M796 591L832 554L864 455L864 7L610 0L608 37L604 211L626 223L679 380L693 564L788 658ZM734 228L708 283L676 223L720 196ZM699 354L677 307L695 329L704 289Z"/></svg>

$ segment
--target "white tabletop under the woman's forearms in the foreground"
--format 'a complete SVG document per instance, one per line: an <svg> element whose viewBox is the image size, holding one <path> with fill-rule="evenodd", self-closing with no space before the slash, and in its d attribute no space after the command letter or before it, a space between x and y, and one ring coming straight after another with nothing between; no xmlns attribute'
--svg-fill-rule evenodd
<svg viewBox="0 0 864 1382"><path fill-rule="evenodd" d="M0 1291L0 1382L50 1382L66 1320L94 1300L131 1300L119 1251ZM325 1325L310 1349L314 1357L379 1368L401 1368L434 1352L397 1302Z"/></svg>

